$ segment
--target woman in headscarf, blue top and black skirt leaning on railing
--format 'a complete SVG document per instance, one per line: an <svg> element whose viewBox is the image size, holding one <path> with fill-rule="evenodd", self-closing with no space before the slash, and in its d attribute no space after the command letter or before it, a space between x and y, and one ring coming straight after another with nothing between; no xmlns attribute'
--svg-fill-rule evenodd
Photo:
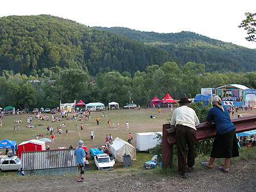
<svg viewBox="0 0 256 192"><path fill-rule="evenodd" d="M225 158L224 166L220 166L222 172L229 172L229 164L232 157L238 157L238 144L236 136L236 127L231 122L228 110L222 105L221 98L215 96L212 100L212 108L210 108L206 123L215 124L217 133L210 152L208 162L201 162L207 168L213 168L215 158Z"/></svg>

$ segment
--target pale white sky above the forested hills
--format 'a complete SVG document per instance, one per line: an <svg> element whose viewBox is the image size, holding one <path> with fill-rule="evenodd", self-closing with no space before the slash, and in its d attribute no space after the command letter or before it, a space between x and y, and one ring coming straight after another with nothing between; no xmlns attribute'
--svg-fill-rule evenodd
<svg viewBox="0 0 256 192"><path fill-rule="evenodd" d="M0 17L59 16L86 26L127 27L138 31L191 31L212 39L255 49L238 26L245 12L256 12L255 0L2 0Z"/></svg>

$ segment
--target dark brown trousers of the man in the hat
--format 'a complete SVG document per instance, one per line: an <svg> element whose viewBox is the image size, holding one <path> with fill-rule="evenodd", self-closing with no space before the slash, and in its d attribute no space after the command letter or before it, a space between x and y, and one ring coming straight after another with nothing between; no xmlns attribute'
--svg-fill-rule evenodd
<svg viewBox="0 0 256 192"><path fill-rule="evenodd" d="M196 130L191 127L178 125L176 130L176 144L179 172L187 172L187 165L195 165ZM188 160L186 164L186 144L188 145Z"/></svg>

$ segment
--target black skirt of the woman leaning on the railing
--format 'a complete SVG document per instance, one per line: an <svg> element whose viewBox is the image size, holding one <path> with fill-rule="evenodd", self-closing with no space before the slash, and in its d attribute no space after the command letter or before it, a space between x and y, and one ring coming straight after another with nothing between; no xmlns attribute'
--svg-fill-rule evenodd
<svg viewBox="0 0 256 192"><path fill-rule="evenodd" d="M210 157L213 158L231 158L238 157L238 144L236 129L229 131L223 135L217 132L213 142Z"/></svg>

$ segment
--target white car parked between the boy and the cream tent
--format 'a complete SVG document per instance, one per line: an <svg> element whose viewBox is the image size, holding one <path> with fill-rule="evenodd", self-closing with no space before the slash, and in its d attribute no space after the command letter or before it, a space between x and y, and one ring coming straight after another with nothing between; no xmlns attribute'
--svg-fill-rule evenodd
<svg viewBox="0 0 256 192"><path fill-rule="evenodd" d="M94 162L98 170L114 169L115 160L114 158L110 158L109 155L106 153L97 154L94 157Z"/></svg>

